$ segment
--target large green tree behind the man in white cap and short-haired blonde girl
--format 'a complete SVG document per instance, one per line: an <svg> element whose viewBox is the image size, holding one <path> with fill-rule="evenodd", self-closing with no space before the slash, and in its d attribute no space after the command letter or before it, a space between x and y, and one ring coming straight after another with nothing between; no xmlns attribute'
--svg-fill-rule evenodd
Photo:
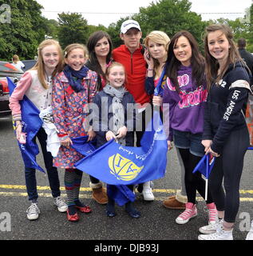
<svg viewBox="0 0 253 256"><path fill-rule="evenodd" d="M180 30L191 32L202 47L201 36L207 22L201 20L201 16L191 11L192 3L188 0L160 0L151 2L148 7L140 7L138 14L121 18L117 23L110 24L109 34L113 40L113 46L119 46L121 23L128 18L140 23L143 38L152 30L162 30L170 38Z"/></svg>

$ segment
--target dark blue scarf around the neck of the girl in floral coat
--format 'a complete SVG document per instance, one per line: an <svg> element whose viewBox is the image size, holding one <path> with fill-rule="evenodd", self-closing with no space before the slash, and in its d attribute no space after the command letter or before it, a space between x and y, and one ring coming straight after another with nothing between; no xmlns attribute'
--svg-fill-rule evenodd
<svg viewBox="0 0 253 256"><path fill-rule="evenodd" d="M81 84L82 79L87 76L87 72L89 71L88 67L83 66L81 70L73 70L69 65L66 65L63 72L69 80L69 85L75 92L79 92L84 90L84 86Z"/></svg>

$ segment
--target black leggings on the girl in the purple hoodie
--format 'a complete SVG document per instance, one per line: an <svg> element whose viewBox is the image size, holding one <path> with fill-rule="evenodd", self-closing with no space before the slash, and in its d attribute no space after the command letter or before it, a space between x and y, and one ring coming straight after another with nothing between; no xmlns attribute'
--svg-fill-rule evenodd
<svg viewBox="0 0 253 256"><path fill-rule="evenodd" d="M196 204L196 191L200 193L200 195L204 198L205 197L205 182L204 179L201 177L200 172L196 172L192 174L195 166L198 162L200 162L201 157L197 157L196 155L190 153L189 149L180 149L180 156L184 163L185 175L184 175L184 182L185 182L185 189L188 198L188 202L192 202ZM208 200L207 203L211 203L211 193L208 190Z"/></svg>

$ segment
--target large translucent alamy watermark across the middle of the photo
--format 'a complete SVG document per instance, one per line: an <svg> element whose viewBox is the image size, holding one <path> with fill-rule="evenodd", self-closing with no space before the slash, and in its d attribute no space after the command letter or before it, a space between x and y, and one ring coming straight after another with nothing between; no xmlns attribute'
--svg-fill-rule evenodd
<svg viewBox="0 0 253 256"><path fill-rule="evenodd" d="M162 104L163 117L162 123L164 124L164 133L168 137L169 134L169 104ZM80 110L81 111L81 110ZM108 98L101 98L101 106L95 103L87 104L83 113L86 114L85 119L82 121L83 128L88 131L90 124L93 124L93 131L108 131L114 130L115 115L114 112L121 112L121 122L125 123L128 131L151 131L152 129L157 130L160 127L159 118L153 117L154 111L160 111L160 106L152 106L152 104L145 104L144 108L141 108L139 104L127 103L126 108L121 103L113 103L109 105ZM144 114L144 118L143 115ZM81 115L77 117L80 119ZM57 120L57 119L56 119ZM152 126L148 123L152 121ZM146 129L145 129L146 128Z"/></svg>

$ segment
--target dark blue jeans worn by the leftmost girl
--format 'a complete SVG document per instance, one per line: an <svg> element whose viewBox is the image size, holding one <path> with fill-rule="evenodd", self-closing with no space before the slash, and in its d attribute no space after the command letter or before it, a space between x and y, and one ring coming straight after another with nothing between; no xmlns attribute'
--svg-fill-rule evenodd
<svg viewBox="0 0 253 256"><path fill-rule="evenodd" d="M48 174L49 178L49 186L53 195L53 198L57 198L60 196L60 182L58 177L57 168L53 167L53 157L50 152L46 151L46 138L47 135L45 130L41 128L36 134L38 141L41 144L42 154L45 163L45 169ZM34 140L36 138L34 137ZM27 168L25 167L25 178L26 178L26 191L28 194L29 200L35 202L38 199L38 192L37 192L37 181L36 181L36 170L34 168Z"/></svg>

